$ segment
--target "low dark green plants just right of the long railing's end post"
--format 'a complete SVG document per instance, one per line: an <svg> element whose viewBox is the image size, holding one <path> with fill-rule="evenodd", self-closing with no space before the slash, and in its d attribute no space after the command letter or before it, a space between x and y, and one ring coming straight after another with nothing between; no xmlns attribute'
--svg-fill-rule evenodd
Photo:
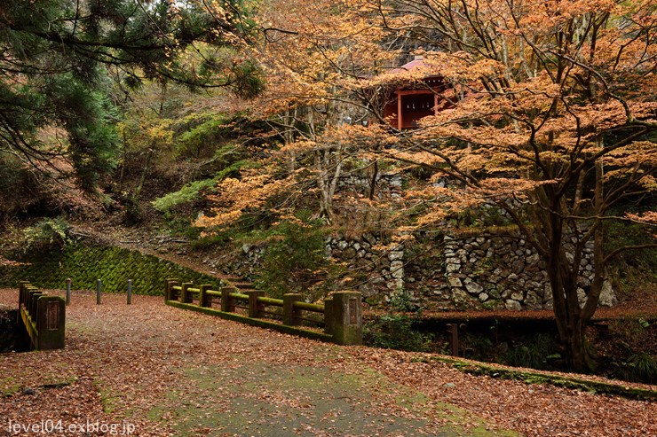
<svg viewBox="0 0 657 437"><path fill-rule="evenodd" d="M431 347L431 334L414 329L411 316L389 314L363 326L363 342L368 346L388 349L427 352Z"/></svg>

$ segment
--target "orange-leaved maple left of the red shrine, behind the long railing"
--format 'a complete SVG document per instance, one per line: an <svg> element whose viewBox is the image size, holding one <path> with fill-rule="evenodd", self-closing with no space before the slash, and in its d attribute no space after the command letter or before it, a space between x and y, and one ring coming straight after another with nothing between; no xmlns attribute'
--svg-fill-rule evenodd
<svg viewBox="0 0 657 437"><path fill-rule="evenodd" d="M378 96L362 86L363 78L379 73L396 55L384 49L387 34L375 17L363 0L261 5L260 38L251 53L267 84L243 106L251 120L267 123L265 137L276 138L275 152L257 170L220 183L219 195L210 198L216 201L214 215L197 224L218 228L263 209L285 215L283 209L289 212L298 197L289 195L293 192L316 194L315 216L333 221L338 182L367 143L353 135L358 129L352 125L362 126ZM376 160L362 165L376 168Z"/></svg>

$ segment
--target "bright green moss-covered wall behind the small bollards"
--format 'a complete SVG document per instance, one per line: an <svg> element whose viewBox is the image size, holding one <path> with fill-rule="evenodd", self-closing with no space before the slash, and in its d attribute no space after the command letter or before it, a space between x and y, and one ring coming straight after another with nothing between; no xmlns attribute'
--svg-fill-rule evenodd
<svg viewBox="0 0 657 437"><path fill-rule="evenodd" d="M0 286L16 287L20 280L28 280L39 288L62 289L70 277L75 290L95 290L96 280L100 279L104 292L124 293L128 279L132 279L133 293L163 295L163 282L167 277L180 277L199 285L211 284L217 289L221 285L216 277L153 255L88 242L77 242L63 251L30 254L21 261L29 265L0 267Z"/></svg>

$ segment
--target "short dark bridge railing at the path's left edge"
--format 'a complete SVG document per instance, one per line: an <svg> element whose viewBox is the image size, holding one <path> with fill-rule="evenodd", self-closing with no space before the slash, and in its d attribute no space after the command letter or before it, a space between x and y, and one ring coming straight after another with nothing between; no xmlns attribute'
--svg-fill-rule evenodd
<svg viewBox="0 0 657 437"><path fill-rule="evenodd" d="M64 347L66 327L66 301L51 296L28 282L19 289L19 324L36 350Z"/></svg>

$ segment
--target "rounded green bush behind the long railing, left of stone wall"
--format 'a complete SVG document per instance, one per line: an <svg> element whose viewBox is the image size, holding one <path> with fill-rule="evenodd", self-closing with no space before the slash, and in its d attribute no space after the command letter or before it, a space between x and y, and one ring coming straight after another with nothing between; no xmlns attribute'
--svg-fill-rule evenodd
<svg viewBox="0 0 657 437"><path fill-rule="evenodd" d="M281 222L271 237L257 272L255 284L273 297L285 293L307 294L329 273L324 236L318 225Z"/></svg>

